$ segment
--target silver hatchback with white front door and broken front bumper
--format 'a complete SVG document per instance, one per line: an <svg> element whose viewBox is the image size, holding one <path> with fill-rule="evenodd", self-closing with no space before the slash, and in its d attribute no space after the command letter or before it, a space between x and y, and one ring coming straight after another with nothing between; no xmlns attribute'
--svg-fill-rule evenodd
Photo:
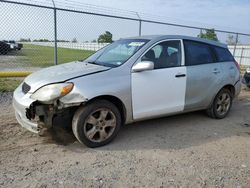
<svg viewBox="0 0 250 188"><path fill-rule="evenodd" d="M135 121L196 110L225 118L240 87L239 65L225 44L142 36L31 74L15 90L13 105L32 132L67 117L79 142L98 147Z"/></svg>

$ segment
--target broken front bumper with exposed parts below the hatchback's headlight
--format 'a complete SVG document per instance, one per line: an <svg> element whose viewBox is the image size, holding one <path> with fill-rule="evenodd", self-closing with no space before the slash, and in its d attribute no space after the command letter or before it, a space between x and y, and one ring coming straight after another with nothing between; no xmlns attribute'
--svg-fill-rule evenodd
<svg viewBox="0 0 250 188"><path fill-rule="evenodd" d="M31 132L39 133L43 128L51 128L57 115L70 116L74 107L82 103L83 98L72 92L52 104L42 104L31 99L30 93L24 94L21 85L15 90L13 107L18 123ZM76 101L78 99L78 101ZM67 103L69 102L69 103Z"/></svg>

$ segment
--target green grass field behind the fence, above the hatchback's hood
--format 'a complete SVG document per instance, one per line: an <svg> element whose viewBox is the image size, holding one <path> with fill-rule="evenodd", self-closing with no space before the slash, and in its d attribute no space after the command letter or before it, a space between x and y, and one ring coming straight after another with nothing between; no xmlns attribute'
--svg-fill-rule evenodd
<svg viewBox="0 0 250 188"><path fill-rule="evenodd" d="M93 53L94 51L90 50L58 48L58 64L85 59ZM17 51L16 55L20 57L19 61L25 65L35 67L54 65L53 47L24 44L23 49Z"/></svg>

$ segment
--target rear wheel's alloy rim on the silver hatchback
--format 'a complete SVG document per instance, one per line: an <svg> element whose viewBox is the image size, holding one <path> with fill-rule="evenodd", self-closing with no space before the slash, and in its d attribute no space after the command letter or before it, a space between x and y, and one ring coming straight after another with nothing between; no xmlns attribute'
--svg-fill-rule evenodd
<svg viewBox="0 0 250 188"><path fill-rule="evenodd" d="M219 115L225 115L231 105L231 98L228 93L222 93L217 98L216 111Z"/></svg>

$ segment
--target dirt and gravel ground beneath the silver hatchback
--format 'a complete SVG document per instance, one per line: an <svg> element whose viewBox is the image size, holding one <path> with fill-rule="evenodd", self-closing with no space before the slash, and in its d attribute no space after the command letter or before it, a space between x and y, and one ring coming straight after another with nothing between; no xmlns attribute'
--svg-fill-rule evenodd
<svg viewBox="0 0 250 188"><path fill-rule="evenodd" d="M250 91L226 119L195 112L128 125L89 149L60 131L21 128L0 98L0 187L249 187Z"/></svg>

